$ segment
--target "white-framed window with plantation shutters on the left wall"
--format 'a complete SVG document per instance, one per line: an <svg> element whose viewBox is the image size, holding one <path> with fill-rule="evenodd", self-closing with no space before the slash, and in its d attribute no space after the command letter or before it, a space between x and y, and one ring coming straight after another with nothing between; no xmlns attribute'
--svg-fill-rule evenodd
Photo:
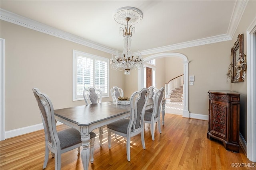
<svg viewBox="0 0 256 170"><path fill-rule="evenodd" d="M109 97L108 59L73 50L73 101L84 100L83 91L94 86Z"/></svg>

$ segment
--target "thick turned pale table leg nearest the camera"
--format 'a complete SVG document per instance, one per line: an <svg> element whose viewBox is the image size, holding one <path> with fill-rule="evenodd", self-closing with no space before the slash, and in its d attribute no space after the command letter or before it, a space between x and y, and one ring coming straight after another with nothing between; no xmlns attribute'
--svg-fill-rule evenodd
<svg viewBox="0 0 256 170"><path fill-rule="evenodd" d="M81 153L81 159L83 163L84 170L88 170L89 168L89 160L90 160L90 134L84 135L81 132L81 141L82 141L82 153Z"/></svg>

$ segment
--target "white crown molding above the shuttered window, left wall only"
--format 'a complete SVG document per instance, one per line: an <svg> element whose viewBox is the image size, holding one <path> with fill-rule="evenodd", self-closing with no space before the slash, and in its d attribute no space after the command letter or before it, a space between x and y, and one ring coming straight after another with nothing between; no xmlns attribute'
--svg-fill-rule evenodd
<svg viewBox="0 0 256 170"><path fill-rule="evenodd" d="M52 35L55 37L66 39L68 41L72 41L74 43L85 45L85 46L91 47L93 49L98 49L98 50L104 51L106 53L114 53L115 52L114 49L111 49L109 47L106 47L106 46L100 45L98 43L95 43L93 41L89 41L87 39L78 37L71 33L61 31L59 29L50 27L50 26L42 24L40 22L30 20L28 18L14 14L7 10L1 9L0 12L1 12L1 20L8 21L10 23L14 23L14 24L17 24L17 25L20 25L23 27L27 27L27 28L30 28L30 29L33 29L33 30L36 30L36 31L39 31L42 33L46 33L46 34L49 34L49 35Z"/></svg>

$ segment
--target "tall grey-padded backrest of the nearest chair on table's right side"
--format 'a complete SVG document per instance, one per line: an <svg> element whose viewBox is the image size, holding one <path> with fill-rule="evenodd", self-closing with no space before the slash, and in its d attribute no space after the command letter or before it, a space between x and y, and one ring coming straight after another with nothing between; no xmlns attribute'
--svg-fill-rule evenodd
<svg viewBox="0 0 256 170"><path fill-rule="evenodd" d="M127 132L136 132L143 130L144 115L148 102L148 88L142 88L138 92L134 92L130 98L130 122Z"/></svg>

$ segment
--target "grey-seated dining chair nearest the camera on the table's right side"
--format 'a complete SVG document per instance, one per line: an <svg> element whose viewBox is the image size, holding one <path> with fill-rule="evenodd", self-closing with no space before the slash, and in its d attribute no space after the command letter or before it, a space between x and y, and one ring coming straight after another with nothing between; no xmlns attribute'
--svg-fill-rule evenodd
<svg viewBox="0 0 256 170"><path fill-rule="evenodd" d="M148 102L149 91L142 88L134 92L130 97L130 119L121 119L107 125L108 128L108 148L111 148L111 132L126 137L127 160L130 161L130 141L131 137L140 134L142 148L146 149L144 140L144 114Z"/></svg>

